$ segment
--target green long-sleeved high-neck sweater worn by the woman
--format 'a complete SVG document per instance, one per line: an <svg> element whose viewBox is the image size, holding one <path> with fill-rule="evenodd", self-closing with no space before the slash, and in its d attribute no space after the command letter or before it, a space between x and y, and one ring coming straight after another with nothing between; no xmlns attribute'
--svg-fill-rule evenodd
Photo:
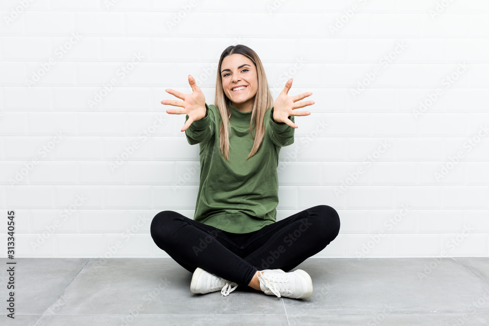
<svg viewBox="0 0 489 326"><path fill-rule="evenodd" d="M219 109L205 104L206 115L185 130L190 145L200 146L200 184L194 220L231 233L260 230L276 221L278 156L294 142L294 128L265 113L265 137L255 155L246 159L254 139L249 133L251 111L231 109L229 160L219 148ZM185 122L189 116L186 115ZM289 116L294 122L294 116ZM253 130L253 133L255 131Z"/></svg>

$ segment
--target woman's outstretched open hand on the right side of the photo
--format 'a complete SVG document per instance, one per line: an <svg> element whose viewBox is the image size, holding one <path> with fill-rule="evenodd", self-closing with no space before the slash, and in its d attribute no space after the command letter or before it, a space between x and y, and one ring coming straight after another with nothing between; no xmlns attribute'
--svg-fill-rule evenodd
<svg viewBox="0 0 489 326"><path fill-rule="evenodd" d="M280 95L275 100L275 104L273 105L273 120L276 122L285 122L290 127L299 128L292 120L289 119L289 116L302 116L309 115L311 112L309 111L294 111L295 109L304 108L308 105L313 105L314 101L305 101L295 103L300 101L308 96L311 96L311 92L302 93L295 96L287 96L289 93L289 89L292 87L292 78L290 78L285 84L284 89L280 92Z"/></svg>

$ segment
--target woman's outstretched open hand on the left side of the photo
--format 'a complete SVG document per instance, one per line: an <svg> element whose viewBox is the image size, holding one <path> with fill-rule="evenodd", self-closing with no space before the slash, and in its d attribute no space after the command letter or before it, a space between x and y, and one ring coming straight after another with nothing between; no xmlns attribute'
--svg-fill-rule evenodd
<svg viewBox="0 0 489 326"><path fill-rule="evenodd" d="M182 101L176 100L163 100L161 104L173 105L175 107L181 107L183 109L168 109L166 113L169 114L188 114L188 120L183 125L182 130L185 131L194 121L200 120L205 117L205 96L197 86L194 77L188 75L188 83L192 87L192 94L183 94L173 89L166 89L166 91L172 95L175 95Z"/></svg>

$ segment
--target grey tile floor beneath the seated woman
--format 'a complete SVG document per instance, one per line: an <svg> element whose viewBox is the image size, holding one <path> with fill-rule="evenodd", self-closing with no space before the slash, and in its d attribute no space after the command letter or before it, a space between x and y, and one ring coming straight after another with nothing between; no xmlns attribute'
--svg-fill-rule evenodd
<svg viewBox="0 0 489 326"><path fill-rule="evenodd" d="M170 258L16 261L15 319L2 267L0 325L489 325L489 258L310 258L302 300L196 295Z"/></svg>

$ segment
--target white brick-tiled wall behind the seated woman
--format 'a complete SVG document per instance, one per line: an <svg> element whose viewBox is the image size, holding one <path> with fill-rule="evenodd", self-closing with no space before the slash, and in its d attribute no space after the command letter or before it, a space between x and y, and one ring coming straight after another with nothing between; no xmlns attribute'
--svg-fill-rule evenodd
<svg viewBox="0 0 489 326"><path fill-rule="evenodd" d="M196 3L1 1L1 257L10 210L17 257L168 257L150 221L193 217L199 151L160 101L191 74L214 103L237 43L275 97L313 92L277 210L338 211L316 257L489 256L488 1Z"/></svg>

